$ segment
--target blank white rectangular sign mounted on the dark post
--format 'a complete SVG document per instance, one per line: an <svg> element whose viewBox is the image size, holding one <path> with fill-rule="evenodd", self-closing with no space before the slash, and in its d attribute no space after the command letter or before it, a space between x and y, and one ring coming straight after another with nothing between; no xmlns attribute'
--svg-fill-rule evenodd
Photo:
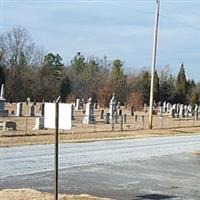
<svg viewBox="0 0 200 200"><path fill-rule="evenodd" d="M55 103L44 104L44 127L55 129ZM72 104L59 103L59 129L71 130Z"/></svg>

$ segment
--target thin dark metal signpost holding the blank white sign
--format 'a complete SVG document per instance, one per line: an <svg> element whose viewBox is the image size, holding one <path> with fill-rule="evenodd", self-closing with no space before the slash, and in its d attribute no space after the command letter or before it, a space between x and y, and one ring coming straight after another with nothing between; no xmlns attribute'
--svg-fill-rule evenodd
<svg viewBox="0 0 200 200"><path fill-rule="evenodd" d="M54 152L54 200L58 200L58 130L59 130L59 98L55 110L55 152Z"/></svg>

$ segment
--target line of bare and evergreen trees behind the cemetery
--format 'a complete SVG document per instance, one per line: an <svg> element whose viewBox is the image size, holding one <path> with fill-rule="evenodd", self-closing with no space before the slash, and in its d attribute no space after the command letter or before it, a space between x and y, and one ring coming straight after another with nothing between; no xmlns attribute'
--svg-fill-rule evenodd
<svg viewBox="0 0 200 200"><path fill-rule="evenodd" d="M108 106L112 93L122 105L140 109L149 104L149 69L125 73L120 59L108 61L78 52L65 65L59 54L45 53L31 40L28 31L17 27L0 35L0 84L6 86L10 102L53 101L59 95L63 102L92 97L101 106ZM177 76L167 67L155 72L155 102L200 103L200 83L188 80L184 64Z"/></svg>

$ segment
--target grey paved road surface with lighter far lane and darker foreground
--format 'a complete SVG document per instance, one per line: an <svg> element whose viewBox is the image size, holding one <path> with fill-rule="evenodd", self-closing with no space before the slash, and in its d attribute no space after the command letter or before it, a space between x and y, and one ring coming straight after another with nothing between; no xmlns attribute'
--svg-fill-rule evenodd
<svg viewBox="0 0 200 200"><path fill-rule="evenodd" d="M59 192L120 200L199 200L200 136L61 144ZM53 192L54 146L0 149L0 189Z"/></svg>

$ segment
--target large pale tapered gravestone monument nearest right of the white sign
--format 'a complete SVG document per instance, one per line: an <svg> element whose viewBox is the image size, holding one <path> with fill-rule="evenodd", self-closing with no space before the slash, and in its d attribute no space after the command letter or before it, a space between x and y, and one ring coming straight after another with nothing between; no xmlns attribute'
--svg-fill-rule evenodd
<svg viewBox="0 0 200 200"><path fill-rule="evenodd" d="M92 98L88 99L85 109L85 116L83 119L83 124L94 124L95 117L94 117L94 104L92 103Z"/></svg>

